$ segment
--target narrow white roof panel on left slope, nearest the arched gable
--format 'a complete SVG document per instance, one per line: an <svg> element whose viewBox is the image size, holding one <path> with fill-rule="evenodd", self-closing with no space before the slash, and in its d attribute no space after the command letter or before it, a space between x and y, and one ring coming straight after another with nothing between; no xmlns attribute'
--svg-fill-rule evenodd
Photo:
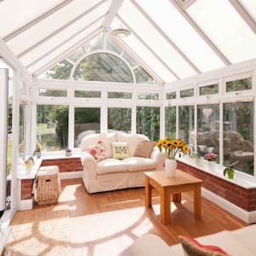
<svg viewBox="0 0 256 256"><path fill-rule="evenodd" d="M80 33L79 35L73 37L71 40L69 40L67 43L62 44L61 47L55 49L52 53L49 55L46 55L44 58L40 59L37 63L32 65L32 67L29 67L28 70L31 73L34 73L44 65L46 65L49 61L53 61L58 55L61 55L68 51L69 48L73 47L74 44L77 44L79 41L84 41L87 36L90 35L91 32L94 32L97 28L102 26L102 20L97 21L93 26L90 26L86 32ZM81 42L82 43L82 42ZM60 60L56 60L60 61Z"/></svg>

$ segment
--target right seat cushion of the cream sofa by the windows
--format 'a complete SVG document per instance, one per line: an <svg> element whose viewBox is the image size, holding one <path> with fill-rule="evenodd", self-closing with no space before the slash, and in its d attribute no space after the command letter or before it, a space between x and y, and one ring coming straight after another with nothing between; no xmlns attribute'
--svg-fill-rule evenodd
<svg viewBox="0 0 256 256"><path fill-rule="evenodd" d="M156 168L156 160L143 157L129 157L122 160L128 165L128 172L148 171Z"/></svg>

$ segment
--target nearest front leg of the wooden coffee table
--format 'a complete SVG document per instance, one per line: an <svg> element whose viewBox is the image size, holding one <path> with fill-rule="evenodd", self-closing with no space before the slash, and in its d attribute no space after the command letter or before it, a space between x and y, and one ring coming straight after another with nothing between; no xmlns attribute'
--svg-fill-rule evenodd
<svg viewBox="0 0 256 256"><path fill-rule="evenodd" d="M168 189L160 189L160 221L167 225L171 223L171 193Z"/></svg>

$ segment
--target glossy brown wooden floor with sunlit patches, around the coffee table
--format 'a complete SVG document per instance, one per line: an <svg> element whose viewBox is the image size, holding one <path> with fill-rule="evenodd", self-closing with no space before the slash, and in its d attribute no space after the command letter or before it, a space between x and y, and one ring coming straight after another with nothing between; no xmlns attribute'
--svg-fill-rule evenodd
<svg viewBox="0 0 256 256"><path fill-rule="evenodd" d="M189 193L183 194L182 205L172 203L171 224L164 226L160 223L160 198L156 191L153 191L153 207L147 209L143 188L89 195L82 179L62 180L61 187L59 204L69 209L74 255L117 255L147 233L172 245L177 243L178 235L205 236L246 225L205 198L202 219L196 220L193 195Z"/></svg>

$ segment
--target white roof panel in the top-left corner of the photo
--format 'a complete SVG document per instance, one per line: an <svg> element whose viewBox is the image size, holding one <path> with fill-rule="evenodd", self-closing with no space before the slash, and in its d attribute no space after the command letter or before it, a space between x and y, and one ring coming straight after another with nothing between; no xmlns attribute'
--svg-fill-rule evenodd
<svg viewBox="0 0 256 256"><path fill-rule="evenodd" d="M8 0L0 2L0 24L8 24L1 26L0 38L9 33L14 32L21 26L25 26L28 22L35 20L38 16L43 15L49 9L55 8L64 0ZM15 17L15 19L14 19Z"/></svg>

